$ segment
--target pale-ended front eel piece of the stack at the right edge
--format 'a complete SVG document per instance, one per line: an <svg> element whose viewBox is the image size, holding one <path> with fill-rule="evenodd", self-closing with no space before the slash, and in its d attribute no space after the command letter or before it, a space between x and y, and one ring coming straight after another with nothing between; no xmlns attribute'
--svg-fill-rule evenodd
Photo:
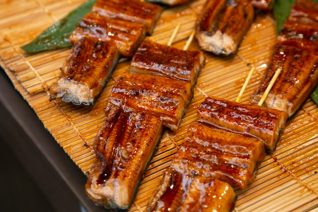
<svg viewBox="0 0 318 212"><path fill-rule="evenodd" d="M281 68L264 105L286 111L289 117L293 116L318 82L317 63L318 56L314 50L276 45L264 81L252 94L251 102L258 102L275 71Z"/></svg>

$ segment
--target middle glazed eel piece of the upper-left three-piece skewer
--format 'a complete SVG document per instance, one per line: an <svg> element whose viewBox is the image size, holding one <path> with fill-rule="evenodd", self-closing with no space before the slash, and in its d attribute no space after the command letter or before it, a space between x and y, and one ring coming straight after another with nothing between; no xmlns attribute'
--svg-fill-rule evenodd
<svg viewBox="0 0 318 212"><path fill-rule="evenodd" d="M121 56L132 57L145 34L146 28L142 23L110 19L90 12L79 21L69 40L76 43L86 36L113 41Z"/></svg>

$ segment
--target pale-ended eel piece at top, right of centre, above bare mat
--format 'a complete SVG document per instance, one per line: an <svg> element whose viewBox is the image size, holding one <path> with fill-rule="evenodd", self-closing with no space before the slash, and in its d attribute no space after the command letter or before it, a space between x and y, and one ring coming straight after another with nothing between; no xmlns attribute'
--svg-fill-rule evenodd
<svg viewBox="0 0 318 212"><path fill-rule="evenodd" d="M254 19L249 0L209 0L196 20L199 46L216 55L236 53Z"/></svg>

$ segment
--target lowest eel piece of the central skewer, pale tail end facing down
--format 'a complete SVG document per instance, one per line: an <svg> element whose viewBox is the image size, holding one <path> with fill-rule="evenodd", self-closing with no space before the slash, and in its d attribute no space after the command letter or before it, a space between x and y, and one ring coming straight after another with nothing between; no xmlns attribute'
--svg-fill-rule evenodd
<svg viewBox="0 0 318 212"><path fill-rule="evenodd" d="M113 108L94 140L88 197L106 208L129 209L162 130L160 119L149 113Z"/></svg>

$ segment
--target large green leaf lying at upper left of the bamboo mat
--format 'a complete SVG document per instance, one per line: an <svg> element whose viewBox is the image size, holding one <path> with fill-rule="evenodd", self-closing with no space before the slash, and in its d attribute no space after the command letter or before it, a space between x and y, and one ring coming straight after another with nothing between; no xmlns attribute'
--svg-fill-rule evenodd
<svg viewBox="0 0 318 212"><path fill-rule="evenodd" d="M69 41L71 33L74 31L76 24L91 11L91 8L95 3L96 0L87 0L66 17L47 28L31 43L22 46L21 48L26 52L35 53L72 46Z"/></svg>

